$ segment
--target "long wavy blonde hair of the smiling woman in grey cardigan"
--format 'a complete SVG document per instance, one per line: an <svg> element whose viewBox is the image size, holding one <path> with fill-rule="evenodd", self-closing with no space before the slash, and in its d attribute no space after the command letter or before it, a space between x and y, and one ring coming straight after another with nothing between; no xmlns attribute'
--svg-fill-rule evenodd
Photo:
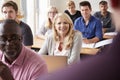
<svg viewBox="0 0 120 80"><path fill-rule="evenodd" d="M69 24L69 31L68 33L66 34L66 37L64 39L64 42L63 42L63 45L64 45L64 49L70 49L73 45L73 38L74 38L74 30L73 30L73 22L72 20L70 19L70 17L65 14L65 13L58 13L55 15L54 17L54 20L53 20L53 32L54 32L54 40L56 42L59 42L60 41L60 36L55 28L55 24L56 24L56 20L58 18L63 18L65 19L65 21Z"/></svg>

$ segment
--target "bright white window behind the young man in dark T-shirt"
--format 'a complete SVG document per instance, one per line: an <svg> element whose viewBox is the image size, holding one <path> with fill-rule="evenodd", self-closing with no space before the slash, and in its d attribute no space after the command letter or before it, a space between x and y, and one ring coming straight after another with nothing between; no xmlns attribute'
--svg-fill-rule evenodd
<svg viewBox="0 0 120 80"><path fill-rule="evenodd" d="M36 34L42 20L45 18L49 0L22 0L24 21L31 27L33 35Z"/></svg>

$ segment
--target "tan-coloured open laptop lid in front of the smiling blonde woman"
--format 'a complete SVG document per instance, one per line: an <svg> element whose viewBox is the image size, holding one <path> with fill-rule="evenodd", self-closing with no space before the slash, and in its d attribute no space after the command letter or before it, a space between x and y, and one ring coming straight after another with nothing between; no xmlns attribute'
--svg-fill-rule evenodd
<svg viewBox="0 0 120 80"><path fill-rule="evenodd" d="M53 72L67 66L67 56L42 55L42 57L47 63L48 72Z"/></svg>

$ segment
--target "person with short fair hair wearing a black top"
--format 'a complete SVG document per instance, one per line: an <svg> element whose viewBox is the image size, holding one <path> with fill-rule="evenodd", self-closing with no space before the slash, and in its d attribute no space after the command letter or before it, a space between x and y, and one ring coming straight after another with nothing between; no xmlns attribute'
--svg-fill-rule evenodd
<svg viewBox="0 0 120 80"><path fill-rule="evenodd" d="M68 14L70 16L73 23L75 22L75 20L78 17L81 17L81 12L76 10L75 8L76 8L76 6L75 6L74 1L68 1L67 2L67 10L64 11L66 14Z"/></svg>

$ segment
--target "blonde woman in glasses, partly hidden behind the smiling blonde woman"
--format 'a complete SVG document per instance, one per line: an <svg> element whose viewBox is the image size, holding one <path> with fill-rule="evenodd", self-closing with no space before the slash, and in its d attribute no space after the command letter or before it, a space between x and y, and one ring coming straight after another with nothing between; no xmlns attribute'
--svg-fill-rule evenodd
<svg viewBox="0 0 120 80"><path fill-rule="evenodd" d="M45 39L45 37L52 32L52 22L54 16L58 13L58 10L54 6L49 6L47 11L47 19L40 26L39 31L37 32L37 37Z"/></svg>

